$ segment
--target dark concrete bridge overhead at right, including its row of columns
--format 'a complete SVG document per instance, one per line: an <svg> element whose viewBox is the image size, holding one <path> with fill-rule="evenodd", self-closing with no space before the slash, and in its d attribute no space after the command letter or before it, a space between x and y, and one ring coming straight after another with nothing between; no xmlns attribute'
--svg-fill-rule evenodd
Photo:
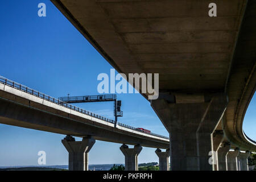
<svg viewBox="0 0 256 182"><path fill-rule="evenodd" d="M256 150L242 130L255 92L256 1L51 1L119 73L159 73L150 102L170 133L172 170L247 169Z"/></svg>

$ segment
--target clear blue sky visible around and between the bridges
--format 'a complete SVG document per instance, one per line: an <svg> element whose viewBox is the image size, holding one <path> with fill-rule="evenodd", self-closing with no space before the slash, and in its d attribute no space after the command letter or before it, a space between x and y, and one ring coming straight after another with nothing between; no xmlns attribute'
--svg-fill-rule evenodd
<svg viewBox="0 0 256 182"><path fill-rule="evenodd" d="M47 17L38 16L40 2L46 3ZM0 21L0 75L20 84L53 97L97 94L98 74L112 68L50 1L1 1ZM118 98L124 113L120 122L168 136L140 94L118 94ZM79 106L113 118L112 102ZM255 110L254 98L244 122L246 134L254 140ZM47 165L68 164L68 152L61 144L64 137L0 125L0 166L37 165L41 150L46 151ZM97 141L89 153L89 164L124 163L120 146ZM158 162L155 148L143 148L139 163L144 162Z"/></svg>

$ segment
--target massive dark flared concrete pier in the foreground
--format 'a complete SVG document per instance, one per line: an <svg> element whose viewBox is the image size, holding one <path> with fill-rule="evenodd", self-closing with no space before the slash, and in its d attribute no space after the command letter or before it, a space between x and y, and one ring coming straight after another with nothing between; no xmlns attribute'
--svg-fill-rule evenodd
<svg viewBox="0 0 256 182"><path fill-rule="evenodd" d="M199 170L196 130L207 104L168 104L155 100L151 105L170 133L171 170Z"/></svg>

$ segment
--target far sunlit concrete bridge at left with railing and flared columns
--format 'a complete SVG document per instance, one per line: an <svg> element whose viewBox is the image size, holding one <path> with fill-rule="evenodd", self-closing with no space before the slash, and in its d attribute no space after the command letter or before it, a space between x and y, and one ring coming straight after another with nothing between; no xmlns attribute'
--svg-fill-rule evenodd
<svg viewBox="0 0 256 182"><path fill-rule="evenodd" d="M122 143L127 170L138 169L144 147L157 148L161 165L168 166L168 137L117 123L79 107L47 96L0 76L0 123L67 135L61 142L69 152L69 170L88 170L88 152L95 140ZM75 141L82 137L82 141ZM126 144L134 145L129 148ZM167 149L161 151L159 148ZM165 159L165 160L164 160Z"/></svg>

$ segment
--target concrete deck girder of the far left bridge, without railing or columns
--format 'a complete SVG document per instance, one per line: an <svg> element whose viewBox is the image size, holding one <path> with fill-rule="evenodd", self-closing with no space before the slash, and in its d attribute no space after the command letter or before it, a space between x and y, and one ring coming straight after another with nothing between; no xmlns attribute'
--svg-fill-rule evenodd
<svg viewBox="0 0 256 182"><path fill-rule="evenodd" d="M169 140L144 134L53 104L0 84L0 123L115 143L169 148Z"/></svg>

